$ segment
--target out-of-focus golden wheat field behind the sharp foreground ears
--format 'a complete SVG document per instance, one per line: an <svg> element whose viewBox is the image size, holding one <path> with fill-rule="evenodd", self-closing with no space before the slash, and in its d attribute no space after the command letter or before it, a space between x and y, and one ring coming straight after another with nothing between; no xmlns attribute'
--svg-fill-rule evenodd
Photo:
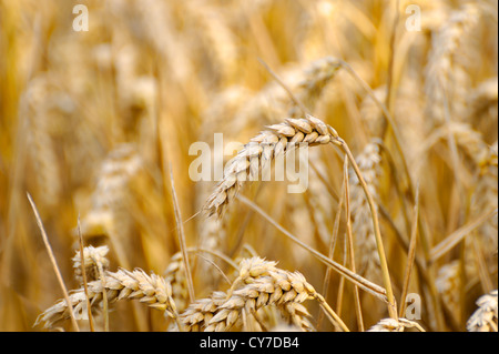
<svg viewBox="0 0 499 354"><path fill-rule="evenodd" d="M387 212L381 232L399 296L407 251L396 233L408 241L413 218L410 198L398 190L407 188L403 159L368 91L338 69L342 59L394 117L419 183L427 243L418 240L417 259L427 267L415 267L409 292L422 297L421 325L465 331L476 300L497 289L497 214L438 260L428 254L497 209L497 1L410 3L420 17L406 12L408 1L388 0L0 0L0 330L42 330L32 326L37 316L62 297L27 192L68 289L80 286L71 262L79 218L86 245L110 247L111 271L164 274L179 252L170 171L183 220L215 185L189 178L196 158L190 145L213 144L214 133L244 143L297 114L261 60L354 155L373 139L384 142L387 153L371 181ZM77 4L88 9L88 31L73 28ZM408 26L411 16L416 28ZM265 182L244 194L328 254L338 212L328 191L340 192L343 156L320 146L310 159L306 193ZM234 260L252 250L302 272L334 309L343 297L342 318L356 327L352 286L342 295L333 273L323 289L324 264L244 204L235 201L222 222L198 215L184 229L190 247ZM344 223L338 234L334 259L344 263ZM223 287L216 274L197 262L198 297ZM386 316L386 306L367 294L363 309L366 327ZM316 305L309 311L317 317ZM112 331L166 328L159 312L132 302L111 314Z"/></svg>

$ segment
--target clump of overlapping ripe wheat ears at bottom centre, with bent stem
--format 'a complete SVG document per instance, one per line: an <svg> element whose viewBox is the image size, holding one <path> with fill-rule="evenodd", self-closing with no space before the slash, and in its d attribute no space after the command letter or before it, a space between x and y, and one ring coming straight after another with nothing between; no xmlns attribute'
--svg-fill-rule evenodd
<svg viewBox="0 0 499 354"><path fill-rule="evenodd" d="M308 328L308 323L303 320L308 312L301 304L315 299L335 324L343 331L348 331L301 273L283 271L275 265L275 262L259 257L243 260L240 276L234 281L230 293L215 292L210 299L191 304L181 314L181 322L187 331L223 332L228 331L242 317L243 312L256 314L262 307L275 305L295 325ZM234 290L237 284L244 285Z"/></svg>

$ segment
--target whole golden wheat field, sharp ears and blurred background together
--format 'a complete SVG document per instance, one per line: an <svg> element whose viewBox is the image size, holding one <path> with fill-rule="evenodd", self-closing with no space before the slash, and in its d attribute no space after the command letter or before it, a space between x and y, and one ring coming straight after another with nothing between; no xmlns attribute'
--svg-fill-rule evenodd
<svg viewBox="0 0 499 354"><path fill-rule="evenodd" d="M493 0L0 0L0 330L497 332L497 22ZM249 174L308 139L307 190L193 181L217 133Z"/></svg>

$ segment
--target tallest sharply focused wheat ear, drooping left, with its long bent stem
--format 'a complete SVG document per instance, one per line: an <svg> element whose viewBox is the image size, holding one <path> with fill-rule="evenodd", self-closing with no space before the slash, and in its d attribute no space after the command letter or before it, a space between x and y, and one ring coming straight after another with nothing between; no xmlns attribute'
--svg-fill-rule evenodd
<svg viewBox="0 0 499 354"><path fill-rule="evenodd" d="M310 114L306 114L303 119L288 118L283 123L266 127L266 130L262 131L256 138L253 138L251 142L228 162L224 170L223 180L207 199L204 210L210 216L216 213L218 218L221 218L227 205L237 195L237 192L244 182L247 180L257 180L259 172L267 169L274 159L295 149L297 143L306 143L313 146L327 144L329 142L339 146L345 152L358 176L364 193L366 194L367 203L371 212L383 281L388 300L388 312L390 317L397 318L397 305L391 290L375 201L369 193L368 186L347 143L339 138L335 129L324 123L322 120Z"/></svg>

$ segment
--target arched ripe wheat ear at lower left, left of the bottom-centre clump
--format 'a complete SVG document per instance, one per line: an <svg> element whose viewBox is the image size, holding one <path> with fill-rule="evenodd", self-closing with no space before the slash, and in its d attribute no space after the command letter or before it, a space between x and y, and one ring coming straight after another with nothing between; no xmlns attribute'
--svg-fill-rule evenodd
<svg viewBox="0 0 499 354"><path fill-rule="evenodd" d="M109 303L120 300L139 300L149 306L164 311L165 314L176 320L176 306L172 297L172 286L163 277L136 269L133 272L119 270L118 272L105 272L105 285L101 280L88 283L89 300L92 310L98 310L103 301L104 292ZM73 291L69 295L72 315L77 320L86 320L86 303L83 289ZM45 328L61 320L70 317L70 310L64 300L60 300L53 306L40 314L34 326L44 323Z"/></svg>

